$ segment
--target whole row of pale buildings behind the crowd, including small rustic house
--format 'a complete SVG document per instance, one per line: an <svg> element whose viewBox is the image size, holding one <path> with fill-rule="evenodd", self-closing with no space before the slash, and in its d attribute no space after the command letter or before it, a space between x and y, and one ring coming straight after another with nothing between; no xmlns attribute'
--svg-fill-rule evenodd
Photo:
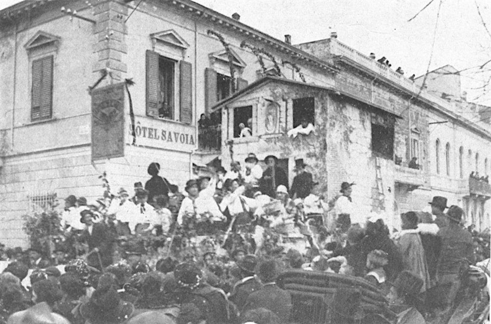
<svg viewBox="0 0 491 324"><path fill-rule="evenodd" d="M487 187L476 190L455 164L462 146L480 153L480 174L491 172L489 124L472 122L487 108L429 92L444 86L420 91L335 35L294 46L190 0L42 0L0 11L0 44L0 237L9 245L27 244L26 212L70 194L99 197L103 172L113 191L131 192L157 161L183 189L193 163L219 157L228 168L249 152L276 154L290 183L304 158L328 198L355 181L360 209L391 221L437 193L483 219L490 212ZM302 116L315 133L287 136ZM249 119L252 136L238 138ZM435 136L442 154L450 143L450 176L443 160L436 172Z"/></svg>

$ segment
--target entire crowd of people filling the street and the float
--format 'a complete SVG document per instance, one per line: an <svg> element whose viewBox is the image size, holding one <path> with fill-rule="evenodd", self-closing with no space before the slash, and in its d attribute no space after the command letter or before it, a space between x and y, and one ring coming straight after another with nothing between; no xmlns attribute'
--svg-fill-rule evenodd
<svg viewBox="0 0 491 324"><path fill-rule="evenodd" d="M2 255L0 323L289 323L292 296L276 282L287 269L361 277L426 314L448 309L468 266L490 257L489 233L473 238L444 197L394 231L356 212L355 183L327 201L303 159L290 188L277 157L265 162L211 164L185 194L153 162L132 198L67 197L54 250Z"/></svg>

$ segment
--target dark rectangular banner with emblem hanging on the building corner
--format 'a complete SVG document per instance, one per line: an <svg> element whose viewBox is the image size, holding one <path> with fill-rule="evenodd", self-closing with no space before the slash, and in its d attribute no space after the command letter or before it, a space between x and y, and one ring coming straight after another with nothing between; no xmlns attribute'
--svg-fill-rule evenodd
<svg viewBox="0 0 491 324"><path fill-rule="evenodd" d="M124 156L124 82L91 92L92 161Z"/></svg>

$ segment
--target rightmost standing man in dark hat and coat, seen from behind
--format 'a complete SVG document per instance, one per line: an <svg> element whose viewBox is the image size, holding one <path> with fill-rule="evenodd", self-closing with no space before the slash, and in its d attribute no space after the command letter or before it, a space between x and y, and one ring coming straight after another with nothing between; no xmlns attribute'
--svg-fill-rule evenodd
<svg viewBox="0 0 491 324"><path fill-rule="evenodd" d="M468 262L474 263L472 236L460 225L462 214L462 208L456 205L450 206L444 214L448 219L448 225L438 231L441 250L437 278L439 289L445 292L441 294L444 296L444 306L451 304L459 291L461 271L468 266Z"/></svg>

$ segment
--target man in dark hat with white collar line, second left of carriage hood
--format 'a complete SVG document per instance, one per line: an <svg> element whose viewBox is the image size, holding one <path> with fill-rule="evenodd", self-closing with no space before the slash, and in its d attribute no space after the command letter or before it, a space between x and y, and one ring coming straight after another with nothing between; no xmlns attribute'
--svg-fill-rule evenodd
<svg viewBox="0 0 491 324"><path fill-rule="evenodd" d="M229 300L238 309L242 309L246 304L247 296L263 288L263 284L254 277L254 269L257 266L257 257L254 254L246 255L242 260L237 262L237 266L239 267L241 279L235 283Z"/></svg>

